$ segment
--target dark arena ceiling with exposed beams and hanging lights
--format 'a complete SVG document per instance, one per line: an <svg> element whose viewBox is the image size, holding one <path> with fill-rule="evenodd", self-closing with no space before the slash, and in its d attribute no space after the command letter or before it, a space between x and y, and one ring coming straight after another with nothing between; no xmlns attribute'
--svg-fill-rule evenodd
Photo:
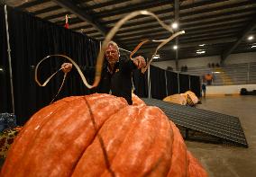
<svg viewBox="0 0 256 177"><path fill-rule="evenodd" d="M256 1L254 0L6 0L6 4L45 21L64 26L69 14L69 29L103 41L116 22L126 14L148 10L186 34L172 40L160 51L158 61L256 51ZM139 15L126 22L114 37L120 47L133 50L144 40L169 37L150 16ZM178 44L178 55L173 46ZM140 53L151 57L157 43L145 44ZM200 45L200 46L199 46ZM198 54L197 51L205 51ZM200 52L199 52L200 53Z"/></svg>

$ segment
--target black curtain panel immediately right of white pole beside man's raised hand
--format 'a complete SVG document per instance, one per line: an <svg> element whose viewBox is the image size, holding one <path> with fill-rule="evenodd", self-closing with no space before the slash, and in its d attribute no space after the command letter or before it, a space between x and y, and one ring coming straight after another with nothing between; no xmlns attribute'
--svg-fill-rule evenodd
<svg viewBox="0 0 256 177"><path fill-rule="evenodd" d="M151 66L151 97L162 100L166 96L165 70Z"/></svg>

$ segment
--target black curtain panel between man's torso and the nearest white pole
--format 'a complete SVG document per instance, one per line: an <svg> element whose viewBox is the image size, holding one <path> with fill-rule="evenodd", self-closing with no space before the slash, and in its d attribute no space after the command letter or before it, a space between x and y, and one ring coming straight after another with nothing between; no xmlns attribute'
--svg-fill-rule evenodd
<svg viewBox="0 0 256 177"><path fill-rule="evenodd" d="M148 98L148 71L142 74L141 70L133 71L134 93L142 98Z"/></svg>

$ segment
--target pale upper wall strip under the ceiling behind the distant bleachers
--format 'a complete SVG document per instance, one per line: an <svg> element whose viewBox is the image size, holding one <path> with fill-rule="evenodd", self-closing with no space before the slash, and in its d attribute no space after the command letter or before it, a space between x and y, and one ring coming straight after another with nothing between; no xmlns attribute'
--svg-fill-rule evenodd
<svg viewBox="0 0 256 177"><path fill-rule="evenodd" d="M208 63L220 63L220 56L212 56L205 58L187 58L178 60L178 66L187 67L198 67L198 66L207 66ZM235 63L250 63L256 62L256 52L240 53L240 54L231 54L225 60L225 64L235 64ZM167 66L172 66L175 69L175 61L160 61L152 62L153 66L159 66L160 68L166 69Z"/></svg>

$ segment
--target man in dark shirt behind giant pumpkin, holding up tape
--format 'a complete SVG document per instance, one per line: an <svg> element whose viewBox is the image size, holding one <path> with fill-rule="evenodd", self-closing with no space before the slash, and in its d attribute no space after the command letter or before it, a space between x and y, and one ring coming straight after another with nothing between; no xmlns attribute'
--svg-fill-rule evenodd
<svg viewBox="0 0 256 177"><path fill-rule="evenodd" d="M133 59L120 56L118 45L114 41L108 43L105 58L107 64L103 67L97 93L112 93L114 96L123 97L128 104L133 104L133 69L145 67L145 59L142 56ZM61 67L68 70L72 68L72 64L64 63Z"/></svg>

